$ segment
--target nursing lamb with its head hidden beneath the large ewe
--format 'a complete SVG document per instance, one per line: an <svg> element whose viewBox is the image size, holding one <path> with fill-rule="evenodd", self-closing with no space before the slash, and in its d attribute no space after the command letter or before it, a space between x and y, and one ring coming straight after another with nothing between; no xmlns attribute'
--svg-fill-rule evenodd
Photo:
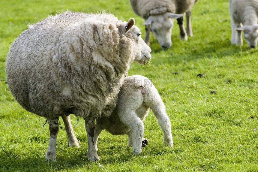
<svg viewBox="0 0 258 172"><path fill-rule="evenodd" d="M133 154L140 155L142 145L148 144L143 138L143 120L151 108L164 132L164 143L173 147L171 124L164 103L151 80L141 75L126 77L122 85L115 110L109 117L96 119L94 143L97 149L98 136L103 129L113 135L128 136L128 146Z"/></svg>

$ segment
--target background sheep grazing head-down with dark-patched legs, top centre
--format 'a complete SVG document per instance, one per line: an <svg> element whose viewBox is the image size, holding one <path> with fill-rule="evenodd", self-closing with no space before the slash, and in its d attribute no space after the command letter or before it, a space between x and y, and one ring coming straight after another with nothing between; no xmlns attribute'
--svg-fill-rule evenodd
<svg viewBox="0 0 258 172"><path fill-rule="evenodd" d="M176 18L180 29L180 38L187 40L193 36L191 28L191 8L198 0L130 0L134 12L143 17L146 29L144 41L149 45L149 33L153 33L163 49L171 47L171 33ZM175 14L176 13L176 14ZM186 32L183 15L186 13Z"/></svg>

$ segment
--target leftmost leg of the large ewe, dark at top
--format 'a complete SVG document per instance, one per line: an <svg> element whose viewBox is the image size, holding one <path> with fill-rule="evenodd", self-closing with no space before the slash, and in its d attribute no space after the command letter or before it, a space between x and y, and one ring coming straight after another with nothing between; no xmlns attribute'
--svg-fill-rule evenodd
<svg viewBox="0 0 258 172"><path fill-rule="evenodd" d="M47 119L49 122L49 145L46 151L46 160L56 161L56 138L59 131L58 117L54 119Z"/></svg>

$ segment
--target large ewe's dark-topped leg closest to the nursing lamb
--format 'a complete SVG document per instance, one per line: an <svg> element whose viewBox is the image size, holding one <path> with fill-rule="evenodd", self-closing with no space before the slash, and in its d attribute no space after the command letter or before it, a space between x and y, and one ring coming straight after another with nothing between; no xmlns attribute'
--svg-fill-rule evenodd
<svg viewBox="0 0 258 172"><path fill-rule="evenodd" d="M94 130L95 130L95 119L85 119L85 128L88 137L88 160L96 161L99 159L97 150L94 146Z"/></svg>

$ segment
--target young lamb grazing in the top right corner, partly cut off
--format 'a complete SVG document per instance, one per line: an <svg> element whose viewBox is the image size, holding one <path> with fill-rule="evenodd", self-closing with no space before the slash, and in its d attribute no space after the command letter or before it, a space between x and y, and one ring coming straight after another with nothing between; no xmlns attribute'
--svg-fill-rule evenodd
<svg viewBox="0 0 258 172"><path fill-rule="evenodd" d="M257 46L258 41L258 1L229 0L231 19L231 44L243 44L244 39L250 48Z"/></svg>

